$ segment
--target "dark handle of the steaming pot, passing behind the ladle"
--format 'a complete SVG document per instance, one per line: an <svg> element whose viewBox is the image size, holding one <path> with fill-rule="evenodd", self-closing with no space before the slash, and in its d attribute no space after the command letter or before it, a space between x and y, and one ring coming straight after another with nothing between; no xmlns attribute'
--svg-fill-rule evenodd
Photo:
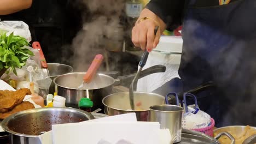
<svg viewBox="0 0 256 144"><path fill-rule="evenodd" d="M166 67L164 65L154 65L153 67L149 67L147 69L142 70L138 79L141 79L144 76L154 74L154 73L164 73L165 70L166 70ZM130 84L132 82L133 78L135 77L135 75L136 75L136 73L130 74L130 75L125 75L125 76L119 76L118 79L115 79L114 86L125 85L125 83Z"/></svg>

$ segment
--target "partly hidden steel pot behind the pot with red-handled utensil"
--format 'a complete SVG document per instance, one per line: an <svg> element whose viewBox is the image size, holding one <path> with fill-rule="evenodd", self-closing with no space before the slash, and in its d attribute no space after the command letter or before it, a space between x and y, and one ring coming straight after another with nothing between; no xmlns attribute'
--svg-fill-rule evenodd
<svg viewBox="0 0 256 144"><path fill-rule="evenodd" d="M73 72L73 68L66 64L48 63L47 65L48 65L51 80L54 80L55 77L57 77L59 75ZM49 93L51 93L51 94L54 93L54 83L53 82L51 82L51 85L49 88Z"/></svg>

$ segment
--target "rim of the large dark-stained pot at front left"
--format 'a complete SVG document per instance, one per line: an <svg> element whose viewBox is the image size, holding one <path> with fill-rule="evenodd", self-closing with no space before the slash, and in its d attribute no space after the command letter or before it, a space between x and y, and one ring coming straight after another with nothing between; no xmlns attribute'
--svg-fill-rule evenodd
<svg viewBox="0 0 256 144"><path fill-rule="evenodd" d="M10 119L13 119L14 117L17 117L19 115L22 115L22 114L25 114L25 113L30 113L30 112L33 112L33 111L34 112L38 112L38 110L39 111L45 111L47 109L55 109L55 110L63 110L63 109L65 109L65 110L71 110L71 111L75 110L75 111L78 111L80 113L86 114L91 119L94 119L94 116L92 116L91 113L88 113L88 112L85 112L85 111L79 110L79 109L73 109L73 108L69 108L69 107L65 107L65 108L63 108L63 107L43 107L43 108L36 108L36 109L20 111L20 112L14 113L13 115L10 115L9 117L3 119L3 121L2 121L2 128L3 128L4 131L7 131L8 133L13 134L13 135L38 138L39 135L26 135L26 134L16 133L15 131L10 130L8 128L7 124L10 121Z"/></svg>

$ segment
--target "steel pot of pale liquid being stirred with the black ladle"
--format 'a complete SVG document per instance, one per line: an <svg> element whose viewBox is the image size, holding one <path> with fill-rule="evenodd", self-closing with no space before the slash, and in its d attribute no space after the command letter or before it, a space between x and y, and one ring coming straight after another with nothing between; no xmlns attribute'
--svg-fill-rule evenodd
<svg viewBox="0 0 256 144"><path fill-rule="evenodd" d="M150 106L165 104L165 97L155 93L134 92L135 110L131 110L129 92L110 94L103 98L104 112L109 116L135 112L137 121L150 121ZM139 109L138 109L139 108Z"/></svg>

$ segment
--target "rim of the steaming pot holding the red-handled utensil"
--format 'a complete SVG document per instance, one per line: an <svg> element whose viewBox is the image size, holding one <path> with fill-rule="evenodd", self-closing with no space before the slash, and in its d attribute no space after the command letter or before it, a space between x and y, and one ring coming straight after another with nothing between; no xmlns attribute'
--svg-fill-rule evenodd
<svg viewBox="0 0 256 144"><path fill-rule="evenodd" d="M58 79L59 77L65 76L65 75L71 75L71 74L85 74L85 72L73 72L73 73L67 73L67 74L59 75L59 76L57 76L57 77L54 78L54 80L53 80L54 85L59 86L59 87L62 87L62 88L67 88L67 89L86 90L85 88L64 87L64 86L61 86L61 85L59 85L59 84L57 84L57 83L55 82L56 79ZM108 85L108 86L98 87L98 88L94 88L94 89L101 89L101 88L109 87L109 86L112 86L112 85L115 83L115 79L114 79L113 77L111 77L111 76L108 76L108 75L105 75L105 74L100 74L100 73L98 73L98 75L103 75L103 76L109 77L110 79L113 79L113 82L112 82L110 85ZM94 90L94 89L88 89L88 90Z"/></svg>

